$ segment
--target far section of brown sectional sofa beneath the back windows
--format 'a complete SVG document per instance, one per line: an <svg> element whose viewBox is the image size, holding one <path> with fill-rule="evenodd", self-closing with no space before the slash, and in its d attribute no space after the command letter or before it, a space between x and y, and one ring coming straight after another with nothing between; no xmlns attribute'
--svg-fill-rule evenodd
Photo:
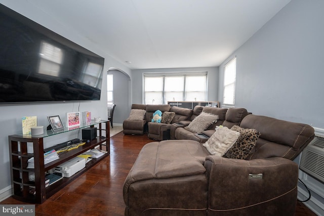
<svg viewBox="0 0 324 216"><path fill-rule="evenodd" d="M146 110L143 120L128 120L123 122L124 134L143 135L157 141L161 140L195 140L204 143L215 132L215 126L224 125L231 127L239 125L241 120L250 114L245 108L218 108L195 106L193 110L188 108L180 108L170 105L143 105L132 104L132 109ZM153 113L156 110L164 112L175 112L175 116L170 124L151 122ZM206 131L201 134L190 131L187 126L201 112L207 112L218 115L219 119L211 124Z"/></svg>

